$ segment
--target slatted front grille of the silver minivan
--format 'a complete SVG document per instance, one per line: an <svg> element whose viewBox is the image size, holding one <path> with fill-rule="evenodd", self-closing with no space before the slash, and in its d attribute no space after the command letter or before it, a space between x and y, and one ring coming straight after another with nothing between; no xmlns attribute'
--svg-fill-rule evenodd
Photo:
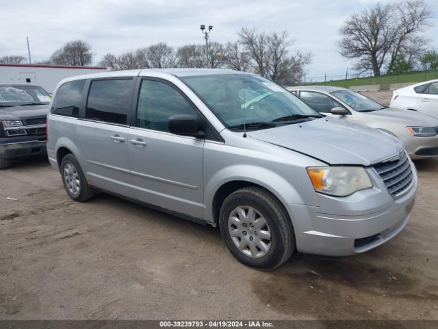
<svg viewBox="0 0 438 329"><path fill-rule="evenodd" d="M381 176L386 188L391 195L400 195L411 185L413 172L406 152L400 160L374 164L378 175Z"/></svg>

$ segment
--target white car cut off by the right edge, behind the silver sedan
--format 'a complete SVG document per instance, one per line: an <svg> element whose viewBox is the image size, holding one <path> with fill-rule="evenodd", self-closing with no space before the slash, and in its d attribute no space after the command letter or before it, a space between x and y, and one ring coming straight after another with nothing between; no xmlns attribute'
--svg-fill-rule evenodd
<svg viewBox="0 0 438 329"><path fill-rule="evenodd" d="M420 82L394 90L390 107L438 117L438 80Z"/></svg>

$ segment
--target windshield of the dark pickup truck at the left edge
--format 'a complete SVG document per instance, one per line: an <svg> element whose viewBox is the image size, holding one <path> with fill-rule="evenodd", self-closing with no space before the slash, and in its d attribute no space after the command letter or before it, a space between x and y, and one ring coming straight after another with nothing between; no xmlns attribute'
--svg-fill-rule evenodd
<svg viewBox="0 0 438 329"><path fill-rule="evenodd" d="M1 85L0 108L8 106L47 105L51 96L40 86Z"/></svg>

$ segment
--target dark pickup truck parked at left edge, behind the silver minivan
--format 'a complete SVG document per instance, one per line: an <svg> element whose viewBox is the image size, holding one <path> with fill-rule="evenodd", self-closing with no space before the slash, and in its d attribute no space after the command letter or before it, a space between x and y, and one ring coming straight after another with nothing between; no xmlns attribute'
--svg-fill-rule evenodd
<svg viewBox="0 0 438 329"><path fill-rule="evenodd" d="M15 158L47 154L51 95L32 84L0 84L0 169Z"/></svg>

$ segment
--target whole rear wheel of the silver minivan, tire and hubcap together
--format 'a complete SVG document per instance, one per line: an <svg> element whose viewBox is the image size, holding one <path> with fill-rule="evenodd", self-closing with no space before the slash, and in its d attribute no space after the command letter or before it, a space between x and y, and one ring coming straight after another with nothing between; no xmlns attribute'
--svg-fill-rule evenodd
<svg viewBox="0 0 438 329"><path fill-rule="evenodd" d="M67 154L61 162L62 183L69 197L84 202L94 197L94 189L88 185L79 162L73 154Z"/></svg>

